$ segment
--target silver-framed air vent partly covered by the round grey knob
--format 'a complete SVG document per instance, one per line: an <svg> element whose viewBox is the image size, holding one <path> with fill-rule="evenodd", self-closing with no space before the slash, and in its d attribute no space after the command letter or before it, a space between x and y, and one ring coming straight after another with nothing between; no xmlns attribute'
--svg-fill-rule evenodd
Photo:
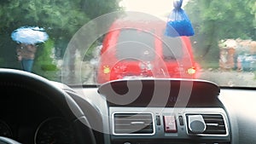
<svg viewBox="0 0 256 144"><path fill-rule="evenodd" d="M200 133L202 135L227 135L227 128L224 121L224 117L221 114L186 114L187 124L189 128L189 116L191 115L201 115L204 123L206 125L206 129ZM192 130L188 129L189 134L195 134ZM198 133L196 133L198 134Z"/></svg>

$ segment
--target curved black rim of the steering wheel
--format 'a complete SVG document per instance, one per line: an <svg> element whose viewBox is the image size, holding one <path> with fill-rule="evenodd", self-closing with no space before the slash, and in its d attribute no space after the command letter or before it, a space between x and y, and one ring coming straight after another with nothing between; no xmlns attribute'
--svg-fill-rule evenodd
<svg viewBox="0 0 256 144"><path fill-rule="evenodd" d="M72 125L74 142L77 144L96 144L93 130L88 119L79 105L63 89L51 83L48 79L31 72L14 69L0 68L0 88L19 87L33 90L35 93L43 93L46 98L55 104L67 121ZM40 95L42 96L42 95ZM0 137L0 144L20 144L6 137Z"/></svg>

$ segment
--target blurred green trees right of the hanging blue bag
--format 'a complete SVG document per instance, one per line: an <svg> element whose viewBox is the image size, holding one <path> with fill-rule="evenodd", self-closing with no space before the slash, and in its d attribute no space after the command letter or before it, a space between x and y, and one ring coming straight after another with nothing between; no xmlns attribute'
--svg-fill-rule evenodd
<svg viewBox="0 0 256 144"><path fill-rule="evenodd" d="M218 63L221 39L256 38L254 0L192 0L184 9L195 29L191 39L198 60Z"/></svg>

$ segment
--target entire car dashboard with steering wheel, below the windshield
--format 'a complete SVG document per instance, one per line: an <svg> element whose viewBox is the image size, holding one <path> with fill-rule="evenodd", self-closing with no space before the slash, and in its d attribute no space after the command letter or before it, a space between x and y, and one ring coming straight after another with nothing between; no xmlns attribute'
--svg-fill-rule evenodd
<svg viewBox="0 0 256 144"><path fill-rule="evenodd" d="M20 143L256 143L256 89L178 78L67 86L22 74L0 71L0 135Z"/></svg>

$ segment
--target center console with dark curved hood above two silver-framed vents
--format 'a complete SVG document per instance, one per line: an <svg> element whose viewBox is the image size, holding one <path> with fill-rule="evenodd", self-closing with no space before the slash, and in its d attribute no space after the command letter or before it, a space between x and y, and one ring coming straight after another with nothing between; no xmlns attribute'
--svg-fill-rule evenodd
<svg viewBox="0 0 256 144"><path fill-rule="evenodd" d="M211 82L119 80L98 92L108 101L113 144L230 144L229 118Z"/></svg>

